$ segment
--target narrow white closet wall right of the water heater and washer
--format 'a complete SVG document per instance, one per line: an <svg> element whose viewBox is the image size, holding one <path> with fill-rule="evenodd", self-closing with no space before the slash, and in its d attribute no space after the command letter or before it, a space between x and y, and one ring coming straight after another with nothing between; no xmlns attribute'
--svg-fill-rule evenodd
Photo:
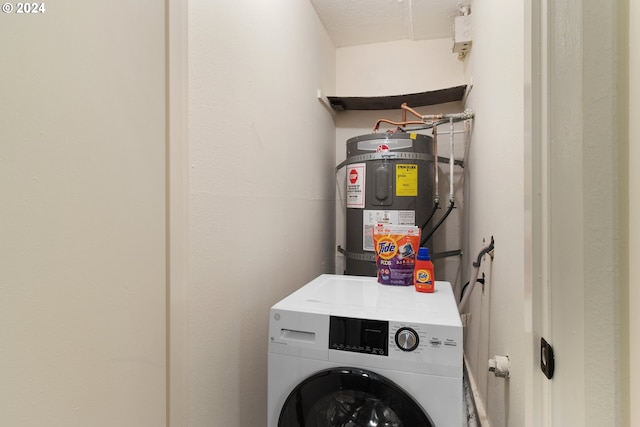
<svg viewBox="0 0 640 427"><path fill-rule="evenodd" d="M469 252L495 238L495 258L469 301L465 354L492 425L524 425L524 5L475 2L468 107L476 118L469 153ZM500 25L496 25L496 23ZM485 243L483 243L485 242ZM487 371L494 355L508 355L509 380Z"/></svg>

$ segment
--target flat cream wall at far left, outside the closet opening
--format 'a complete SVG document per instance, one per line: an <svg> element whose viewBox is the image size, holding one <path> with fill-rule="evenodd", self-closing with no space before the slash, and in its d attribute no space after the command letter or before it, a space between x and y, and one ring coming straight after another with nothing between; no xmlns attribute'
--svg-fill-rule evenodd
<svg viewBox="0 0 640 427"><path fill-rule="evenodd" d="M165 423L165 29L0 16L0 425Z"/></svg>

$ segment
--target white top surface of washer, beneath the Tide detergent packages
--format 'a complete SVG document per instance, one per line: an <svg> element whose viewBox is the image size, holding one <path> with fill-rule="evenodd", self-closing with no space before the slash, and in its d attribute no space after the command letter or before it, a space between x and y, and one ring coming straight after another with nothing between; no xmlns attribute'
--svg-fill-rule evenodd
<svg viewBox="0 0 640 427"><path fill-rule="evenodd" d="M438 281L435 292L422 293L382 285L375 277L323 274L273 309L462 327L451 285Z"/></svg>

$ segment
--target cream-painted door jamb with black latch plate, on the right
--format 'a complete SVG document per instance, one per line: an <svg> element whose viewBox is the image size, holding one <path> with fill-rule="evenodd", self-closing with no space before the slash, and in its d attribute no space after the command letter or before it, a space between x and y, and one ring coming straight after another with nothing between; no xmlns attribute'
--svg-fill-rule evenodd
<svg viewBox="0 0 640 427"><path fill-rule="evenodd" d="M616 2L530 6L535 403L527 421L622 425L628 373L622 14ZM554 350L550 380L538 369L541 337Z"/></svg>

